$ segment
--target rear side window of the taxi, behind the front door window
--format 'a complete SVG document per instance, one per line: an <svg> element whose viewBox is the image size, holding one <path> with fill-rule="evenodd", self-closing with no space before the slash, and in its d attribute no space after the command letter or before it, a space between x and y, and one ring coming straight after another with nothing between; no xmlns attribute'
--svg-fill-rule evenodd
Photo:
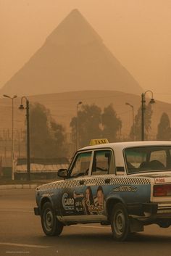
<svg viewBox="0 0 171 256"><path fill-rule="evenodd" d="M93 165L91 175L103 175L109 173L111 159L110 150L95 151L93 155Z"/></svg>

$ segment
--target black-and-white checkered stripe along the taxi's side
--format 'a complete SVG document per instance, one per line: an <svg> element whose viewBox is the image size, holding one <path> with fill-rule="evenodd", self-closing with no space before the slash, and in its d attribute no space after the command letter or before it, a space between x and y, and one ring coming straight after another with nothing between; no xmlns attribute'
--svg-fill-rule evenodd
<svg viewBox="0 0 171 256"><path fill-rule="evenodd" d="M150 184L149 178L141 177L93 177L86 178L83 185L80 185L80 181L84 178L71 179L70 181L56 181L53 183L48 183L38 187L38 190L49 190L49 189L64 189L64 188L74 188L78 186L86 186L88 184L93 184L93 186L104 186L104 185L146 185ZM105 179L110 179L110 183L105 183Z"/></svg>

